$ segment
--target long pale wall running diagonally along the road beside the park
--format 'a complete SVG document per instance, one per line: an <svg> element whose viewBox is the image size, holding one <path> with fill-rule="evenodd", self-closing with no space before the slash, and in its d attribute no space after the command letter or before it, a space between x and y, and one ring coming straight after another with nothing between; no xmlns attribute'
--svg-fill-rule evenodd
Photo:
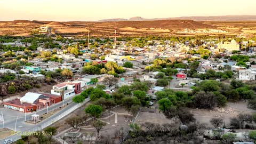
<svg viewBox="0 0 256 144"><path fill-rule="evenodd" d="M21 135L31 135L34 132L42 131L45 127L47 127L49 125L52 125L53 123L59 121L61 118L65 117L66 115L68 115L70 113L72 113L74 110L76 110L77 108L83 106L88 101L90 101L90 98L85 99L83 103L81 103L79 105L75 105L75 106L73 106L73 107L71 107L71 108L69 108L69 109L67 109L67 110L65 110L63 112L59 111L59 113L62 112L60 115L55 116L55 115L57 115L59 113L57 113L55 115L52 115L51 117L45 119L45 122L43 121L41 125L35 126L33 129L30 128L29 130L18 132L17 134L11 135L10 137L7 137L7 138L5 138L3 140L0 140L0 143L4 144L4 140L6 140L6 139L11 139L14 142L14 141L17 141L17 140L21 139Z"/></svg>

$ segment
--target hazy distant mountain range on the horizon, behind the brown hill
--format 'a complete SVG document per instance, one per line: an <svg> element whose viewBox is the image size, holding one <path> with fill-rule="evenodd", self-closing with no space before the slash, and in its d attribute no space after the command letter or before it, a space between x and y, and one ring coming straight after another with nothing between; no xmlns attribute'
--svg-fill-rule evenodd
<svg viewBox="0 0 256 144"><path fill-rule="evenodd" d="M209 17L175 17L175 18L155 18L145 19L141 17L132 17L130 19L104 19L99 22L107 21L154 21L154 20L194 20L194 21L256 21L256 15L223 15Z"/></svg>

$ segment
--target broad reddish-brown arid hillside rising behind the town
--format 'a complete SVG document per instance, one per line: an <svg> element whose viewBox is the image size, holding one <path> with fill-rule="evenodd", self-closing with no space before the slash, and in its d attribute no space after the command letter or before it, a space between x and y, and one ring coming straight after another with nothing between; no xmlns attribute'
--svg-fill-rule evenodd
<svg viewBox="0 0 256 144"><path fill-rule="evenodd" d="M140 19L139 17L132 18ZM114 22L84 22L84 21L2 21L0 35L26 36L33 29L41 26L51 27L52 33L58 35L86 35L91 36L147 36L147 35L180 35L184 29L221 29L214 22L199 22L193 20L157 20L157 21L114 21ZM194 34L193 34L194 35Z"/></svg>

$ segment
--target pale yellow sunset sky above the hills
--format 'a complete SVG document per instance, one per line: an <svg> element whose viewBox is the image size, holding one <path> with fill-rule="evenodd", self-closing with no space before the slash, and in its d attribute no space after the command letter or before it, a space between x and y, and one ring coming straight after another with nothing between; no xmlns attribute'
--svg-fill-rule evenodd
<svg viewBox="0 0 256 144"><path fill-rule="evenodd" d="M0 0L0 21L256 15L255 0Z"/></svg>

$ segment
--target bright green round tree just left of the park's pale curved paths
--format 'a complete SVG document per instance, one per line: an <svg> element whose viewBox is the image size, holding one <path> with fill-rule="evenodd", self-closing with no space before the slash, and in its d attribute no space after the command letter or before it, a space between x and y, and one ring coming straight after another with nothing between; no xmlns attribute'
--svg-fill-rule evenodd
<svg viewBox="0 0 256 144"><path fill-rule="evenodd" d="M85 113L90 114L93 119L99 118L102 114L102 107L91 104L85 108Z"/></svg>

